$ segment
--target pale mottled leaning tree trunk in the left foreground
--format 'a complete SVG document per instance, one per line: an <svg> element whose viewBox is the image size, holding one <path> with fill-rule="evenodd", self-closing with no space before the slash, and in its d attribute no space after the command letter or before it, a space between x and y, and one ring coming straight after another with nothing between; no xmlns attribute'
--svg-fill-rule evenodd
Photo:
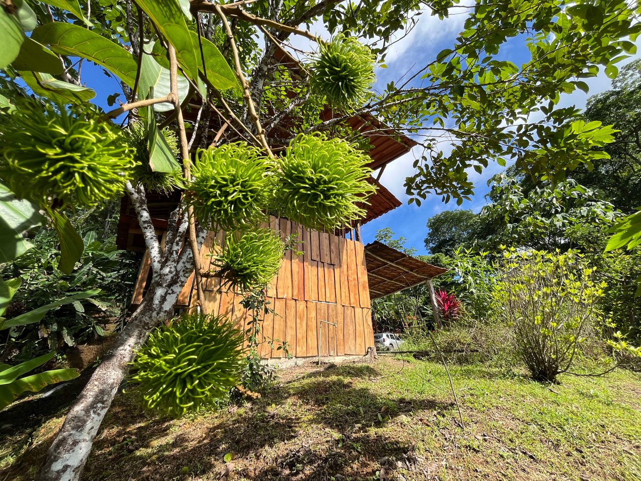
<svg viewBox="0 0 641 481"><path fill-rule="evenodd" d="M199 237L201 244L204 235ZM67 414L58 436L47 451L47 459L38 473L37 481L79 480L98 428L128 372L129 362L147 340L151 330L172 316L178 294L193 271L189 248L183 249L181 256L174 258L168 255L168 251L169 246L165 248L164 265L158 273L154 273L140 307L131 316ZM170 257L169 260L167 257Z"/></svg>

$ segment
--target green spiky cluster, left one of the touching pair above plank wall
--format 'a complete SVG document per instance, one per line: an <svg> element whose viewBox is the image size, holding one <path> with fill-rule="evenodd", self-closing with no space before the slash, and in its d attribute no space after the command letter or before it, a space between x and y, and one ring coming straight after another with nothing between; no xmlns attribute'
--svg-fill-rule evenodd
<svg viewBox="0 0 641 481"><path fill-rule="evenodd" d="M192 173L188 198L201 224L233 232L265 217L272 180L260 149L237 142L199 150Z"/></svg>

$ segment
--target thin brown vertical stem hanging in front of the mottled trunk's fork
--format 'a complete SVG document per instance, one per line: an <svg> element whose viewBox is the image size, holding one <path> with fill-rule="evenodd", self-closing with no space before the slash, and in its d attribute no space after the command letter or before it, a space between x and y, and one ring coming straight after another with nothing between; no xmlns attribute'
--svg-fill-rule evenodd
<svg viewBox="0 0 641 481"><path fill-rule="evenodd" d="M187 181L191 180L191 167L192 161L189 157L189 147L187 142L187 132L185 131L185 120L183 119L183 111L180 108L180 100L178 99L178 59L176 58L176 49L172 44L169 44L167 49L169 53L169 83L171 84L171 92L174 95L174 110L176 111L176 117L178 121L178 137L180 139L180 149L183 156L183 172L185 174L185 179ZM204 306L204 292L203 292L203 279L200 275L200 258L199 258L199 249L198 241L196 236L196 224L194 216L194 208L188 207L188 233L189 233L189 244L193 253L193 262L194 270L196 271L196 292L198 295L198 303L201 310L206 314Z"/></svg>

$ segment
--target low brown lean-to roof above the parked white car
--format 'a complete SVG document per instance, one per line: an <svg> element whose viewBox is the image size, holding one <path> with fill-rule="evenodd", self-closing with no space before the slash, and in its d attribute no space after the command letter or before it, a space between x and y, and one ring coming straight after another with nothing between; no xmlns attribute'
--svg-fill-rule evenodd
<svg viewBox="0 0 641 481"><path fill-rule="evenodd" d="M447 272L444 267L410 257L378 241L365 246L365 263L372 299L403 291Z"/></svg>

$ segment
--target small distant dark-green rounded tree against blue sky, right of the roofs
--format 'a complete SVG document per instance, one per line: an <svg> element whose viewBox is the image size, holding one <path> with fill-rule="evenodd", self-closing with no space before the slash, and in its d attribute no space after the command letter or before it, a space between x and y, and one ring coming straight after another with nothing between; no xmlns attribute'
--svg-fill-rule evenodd
<svg viewBox="0 0 641 481"><path fill-rule="evenodd" d="M428 219L425 248L432 254L452 255L454 250L476 240L478 215L471 210L444 210Z"/></svg>

